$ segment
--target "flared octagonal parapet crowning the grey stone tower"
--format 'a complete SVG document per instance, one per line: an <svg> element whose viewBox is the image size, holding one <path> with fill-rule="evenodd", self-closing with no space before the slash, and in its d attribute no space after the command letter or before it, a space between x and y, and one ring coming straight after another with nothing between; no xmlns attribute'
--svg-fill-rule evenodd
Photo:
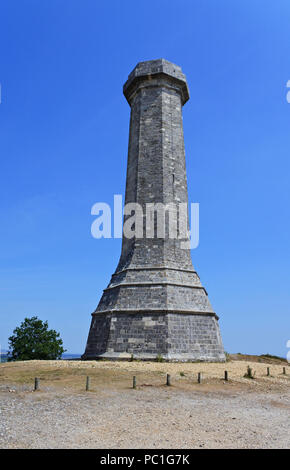
<svg viewBox="0 0 290 470"><path fill-rule="evenodd" d="M128 76L123 92L129 104L144 86L172 86L180 92L182 105L189 100L186 77L181 67L165 59L139 62Z"/></svg>

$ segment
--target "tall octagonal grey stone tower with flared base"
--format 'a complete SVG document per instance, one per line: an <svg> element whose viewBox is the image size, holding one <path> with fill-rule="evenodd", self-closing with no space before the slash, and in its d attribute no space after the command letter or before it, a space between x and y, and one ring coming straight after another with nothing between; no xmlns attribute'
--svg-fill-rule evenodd
<svg viewBox="0 0 290 470"><path fill-rule="evenodd" d="M187 203L185 75L164 59L140 62L123 91L131 107L125 204L137 202L145 214L148 203ZM190 249L182 246L188 235L170 237L166 220L163 238L155 230L151 237L123 235L119 264L92 314L83 359L225 360L218 317Z"/></svg>

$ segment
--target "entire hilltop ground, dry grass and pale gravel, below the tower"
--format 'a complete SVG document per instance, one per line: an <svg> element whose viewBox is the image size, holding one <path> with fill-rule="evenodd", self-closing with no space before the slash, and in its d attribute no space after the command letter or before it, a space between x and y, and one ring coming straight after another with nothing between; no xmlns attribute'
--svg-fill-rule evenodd
<svg viewBox="0 0 290 470"><path fill-rule="evenodd" d="M244 377L248 365L254 379ZM0 448L289 448L289 385L287 362L241 355L225 364L0 364Z"/></svg>

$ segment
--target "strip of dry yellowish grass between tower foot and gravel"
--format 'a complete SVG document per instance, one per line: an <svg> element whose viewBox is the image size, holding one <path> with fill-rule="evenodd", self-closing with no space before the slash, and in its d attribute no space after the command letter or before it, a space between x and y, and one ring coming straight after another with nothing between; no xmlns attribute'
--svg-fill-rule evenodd
<svg viewBox="0 0 290 470"><path fill-rule="evenodd" d="M255 372L255 380L244 377L248 363ZM270 367L270 377L267 377ZM287 375L283 375L286 367ZM289 364L283 362L255 362L232 360L227 363L160 363L160 362L111 362L111 361L24 361L0 365L0 385L19 384L32 386L34 377L40 378L41 387L81 392L86 376L91 377L91 390L128 389L132 376L137 376L137 385L164 386L165 375L171 375L175 387L187 389L189 386L218 390L224 386L224 371L228 371L228 386L267 389L290 383ZM198 385L197 374L202 373L202 384Z"/></svg>

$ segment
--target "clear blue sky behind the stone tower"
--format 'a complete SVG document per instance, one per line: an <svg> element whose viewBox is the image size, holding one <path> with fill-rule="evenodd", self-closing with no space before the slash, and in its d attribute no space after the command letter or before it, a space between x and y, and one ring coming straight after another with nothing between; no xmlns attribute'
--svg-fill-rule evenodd
<svg viewBox="0 0 290 470"><path fill-rule="evenodd" d="M193 263L229 352L290 339L289 0L10 0L0 29L0 343L25 316L82 353L120 240L90 210L124 194L137 62L181 65Z"/></svg>

